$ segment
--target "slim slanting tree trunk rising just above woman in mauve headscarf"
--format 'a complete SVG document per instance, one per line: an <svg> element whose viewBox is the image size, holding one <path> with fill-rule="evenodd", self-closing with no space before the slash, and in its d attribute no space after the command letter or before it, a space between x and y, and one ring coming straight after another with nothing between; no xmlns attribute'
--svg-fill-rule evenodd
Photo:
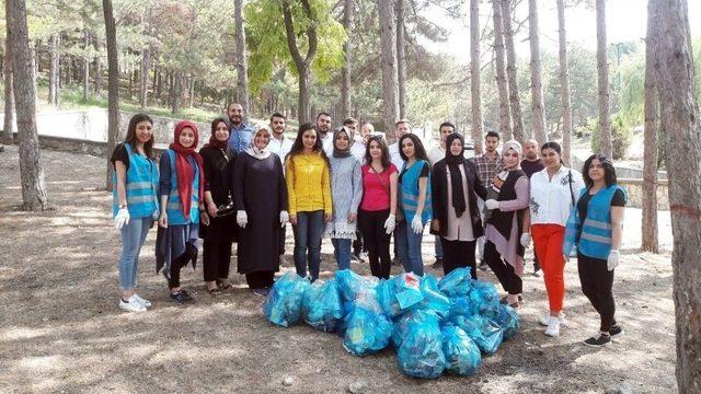
<svg viewBox="0 0 701 394"><path fill-rule="evenodd" d="M504 42L506 44L506 76L508 77L508 101L512 106L512 121L514 139L524 142L524 117L521 114L521 99L518 93L518 78L516 74L516 48L514 47L514 30L512 28L512 0L502 2L502 25L504 26Z"/></svg>

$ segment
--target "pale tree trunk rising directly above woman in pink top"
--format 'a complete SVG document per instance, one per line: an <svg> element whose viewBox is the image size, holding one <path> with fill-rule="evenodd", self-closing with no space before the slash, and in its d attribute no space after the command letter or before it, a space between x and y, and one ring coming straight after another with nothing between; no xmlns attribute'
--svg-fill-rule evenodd
<svg viewBox="0 0 701 394"><path fill-rule="evenodd" d="M399 116L399 76L397 73L397 25L392 0L379 0L380 45L382 54L382 101L384 134L394 142L394 123Z"/></svg>

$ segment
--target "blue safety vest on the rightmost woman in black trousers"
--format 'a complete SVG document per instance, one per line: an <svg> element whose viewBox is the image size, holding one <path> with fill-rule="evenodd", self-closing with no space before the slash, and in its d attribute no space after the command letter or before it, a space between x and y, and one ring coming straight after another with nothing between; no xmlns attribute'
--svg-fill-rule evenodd
<svg viewBox="0 0 701 394"><path fill-rule="evenodd" d="M611 199L616 190L625 190L618 185L611 185L597 192L587 206L587 218L579 224L579 210L576 207L570 209L570 218L565 229L565 242L563 253L568 256L574 246L585 256L606 259L611 252ZM588 188L584 188L579 198Z"/></svg>

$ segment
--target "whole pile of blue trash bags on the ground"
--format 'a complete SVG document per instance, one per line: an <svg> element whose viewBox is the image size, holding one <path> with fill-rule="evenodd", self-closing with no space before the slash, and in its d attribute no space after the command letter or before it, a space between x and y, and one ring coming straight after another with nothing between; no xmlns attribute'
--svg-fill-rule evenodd
<svg viewBox="0 0 701 394"><path fill-rule="evenodd" d="M519 327L518 314L499 303L495 286L472 280L470 268L440 280L411 273L378 280L344 269L314 283L287 273L273 286L263 311L283 327L303 320L314 329L336 333L355 356L391 346L399 369L421 379L474 374L482 356L496 352Z"/></svg>

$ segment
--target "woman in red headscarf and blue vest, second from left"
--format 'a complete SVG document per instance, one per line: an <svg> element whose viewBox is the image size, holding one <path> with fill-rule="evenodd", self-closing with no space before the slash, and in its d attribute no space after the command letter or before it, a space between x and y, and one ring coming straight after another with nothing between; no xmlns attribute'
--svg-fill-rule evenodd
<svg viewBox="0 0 701 394"><path fill-rule="evenodd" d="M159 196L161 216L156 236L156 271L163 268L170 299L179 304L194 301L180 286L180 271L197 263L200 212L205 211L205 173L202 157L195 152L199 141L197 125L181 120L175 125L173 143L160 162ZM202 216L203 223L209 218Z"/></svg>

